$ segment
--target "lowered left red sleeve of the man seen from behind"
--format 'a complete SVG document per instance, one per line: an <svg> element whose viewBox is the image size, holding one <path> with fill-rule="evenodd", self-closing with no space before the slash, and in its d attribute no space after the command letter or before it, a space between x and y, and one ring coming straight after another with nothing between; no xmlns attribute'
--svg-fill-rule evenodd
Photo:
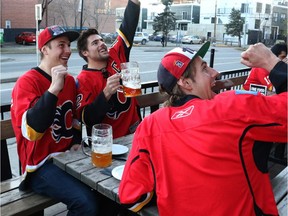
<svg viewBox="0 0 288 216"><path fill-rule="evenodd" d="M155 184L149 152L139 148L139 142L136 132L119 187L121 204L133 212L150 202Z"/></svg>

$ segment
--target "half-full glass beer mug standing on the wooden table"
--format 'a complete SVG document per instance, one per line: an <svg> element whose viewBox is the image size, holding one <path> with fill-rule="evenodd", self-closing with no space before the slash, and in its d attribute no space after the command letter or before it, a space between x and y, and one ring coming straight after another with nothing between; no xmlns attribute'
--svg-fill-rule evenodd
<svg viewBox="0 0 288 216"><path fill-rule="evenodd" d="M85 149L85 141L91 141L91 150ZM107 167L112 164L112 126L109 124L96 124L92 127L91 137L82 140L82 151L91 157L92 164L96 167Z"/></svg>

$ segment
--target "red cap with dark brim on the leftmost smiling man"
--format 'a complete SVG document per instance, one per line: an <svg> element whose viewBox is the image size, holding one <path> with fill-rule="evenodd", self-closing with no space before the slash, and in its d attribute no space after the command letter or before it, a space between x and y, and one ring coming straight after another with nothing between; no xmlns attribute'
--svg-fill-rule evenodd
<svg viewBox="0 0 288 216"><path fill-rule="evenodd" d="M66 31L58 25L46 27L38 36L38 49L41 50L46 43L60 36L66 36L72 42L79 37L79 33L76 31Z"/></svg>

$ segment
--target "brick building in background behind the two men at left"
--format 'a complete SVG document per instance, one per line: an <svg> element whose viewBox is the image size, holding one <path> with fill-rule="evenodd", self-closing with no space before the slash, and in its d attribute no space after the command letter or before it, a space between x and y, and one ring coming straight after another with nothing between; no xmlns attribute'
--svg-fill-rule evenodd
<svg viewBox="0 0 288 216"><path fill-rule="evenodd" d="M83 27L96 27L100 32L115 32L115 8L125 7L127 0L83 0ZM1 30L4 41L14 41L22 31L36 31L35 4L42 0L1 0ZM80 0L55 0L48 5L40 28L61 25L70 29L80 27Z"/></svg>

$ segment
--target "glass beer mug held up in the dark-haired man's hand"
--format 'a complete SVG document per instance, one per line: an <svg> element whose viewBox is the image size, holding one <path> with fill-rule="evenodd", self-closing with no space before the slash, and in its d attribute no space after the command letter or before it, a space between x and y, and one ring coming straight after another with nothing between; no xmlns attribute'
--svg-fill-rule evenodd
<svg viewBox="0 0 288 216"><path fill-rule="evenodd" d="M121 63L123 93L126 97L141 95L139 65L135 61Z"/></svg>

